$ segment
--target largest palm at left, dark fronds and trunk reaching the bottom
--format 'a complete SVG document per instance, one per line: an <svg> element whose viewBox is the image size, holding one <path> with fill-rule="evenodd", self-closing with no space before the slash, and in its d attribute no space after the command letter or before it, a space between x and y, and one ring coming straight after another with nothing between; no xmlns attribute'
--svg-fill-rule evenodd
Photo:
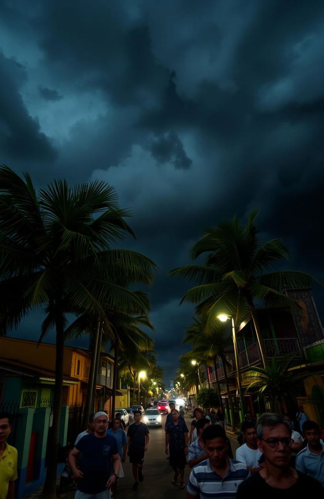
<svg viewBox="0 0 324 499"><path fill-rule="evenodd" d="M0 334L17 327L35 306L46 312L40 341L49 329L56 331L53 434L43 488L51 499L56 495L65 314L88 311L101 317L102 303L146 313L145 300L115 284L121 269L128 283L149 283L154 267L143 255L112 248L125 233L134 235L128 216L104 182L69 188L58 180L37 195L29 174L22 179L0 167Z"/></svg>

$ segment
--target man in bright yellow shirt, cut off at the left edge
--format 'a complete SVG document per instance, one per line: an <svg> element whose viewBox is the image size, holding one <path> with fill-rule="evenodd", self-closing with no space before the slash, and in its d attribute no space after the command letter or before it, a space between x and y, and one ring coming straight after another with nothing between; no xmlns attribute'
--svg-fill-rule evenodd
<svg viewBox="0 0 324 499"><path fill-rule="evenodd" d="M7 444L11 432L11 415L0 412L0 499L14 499L18 452Z"/></svg>

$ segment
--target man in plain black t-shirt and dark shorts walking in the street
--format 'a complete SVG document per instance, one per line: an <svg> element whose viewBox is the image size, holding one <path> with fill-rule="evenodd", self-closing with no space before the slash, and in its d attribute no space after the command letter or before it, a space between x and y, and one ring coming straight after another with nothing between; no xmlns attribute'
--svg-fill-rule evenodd
<svg viewBox="0 0 324 499"><path fill-rule="evenodd" d="M130 462L132 463L132 471L135 483L133 490L138 489L138 483L143 481L143 461L144 453L147 451L148 442L150 439L148 427L141 422L142 413L134 412L135 422L129 426L128 437L128 453Z"/></svg>

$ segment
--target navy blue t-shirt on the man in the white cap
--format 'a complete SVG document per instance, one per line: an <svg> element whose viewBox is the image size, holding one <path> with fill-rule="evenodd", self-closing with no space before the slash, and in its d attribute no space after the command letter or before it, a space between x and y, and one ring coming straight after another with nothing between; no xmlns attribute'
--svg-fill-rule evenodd
<svg viewBox="0 0 324 499"><path fill-rule="evenodd" d="M79 469L84 474L84 478L76 482L77 490L87 494L102 492L111 475L111 457L118 454L116 439L111 435L100 438L90 433L75 447L80 451Z"/></svg>

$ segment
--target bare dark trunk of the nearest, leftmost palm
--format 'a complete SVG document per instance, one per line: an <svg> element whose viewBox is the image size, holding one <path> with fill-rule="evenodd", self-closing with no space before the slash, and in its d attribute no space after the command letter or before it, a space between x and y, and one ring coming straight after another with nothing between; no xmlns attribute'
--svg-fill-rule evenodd
<svg viewBox="0 0 324 499"><path fill-rule="evenodd" d="M63 315L56 319L55 385L53 398L53 425L49 443L48 467L42 491L44 499L56 499L57 453L59 448L61 406L63 393L64 326ZM63 442L65 444L65 442Z"/></svg>

